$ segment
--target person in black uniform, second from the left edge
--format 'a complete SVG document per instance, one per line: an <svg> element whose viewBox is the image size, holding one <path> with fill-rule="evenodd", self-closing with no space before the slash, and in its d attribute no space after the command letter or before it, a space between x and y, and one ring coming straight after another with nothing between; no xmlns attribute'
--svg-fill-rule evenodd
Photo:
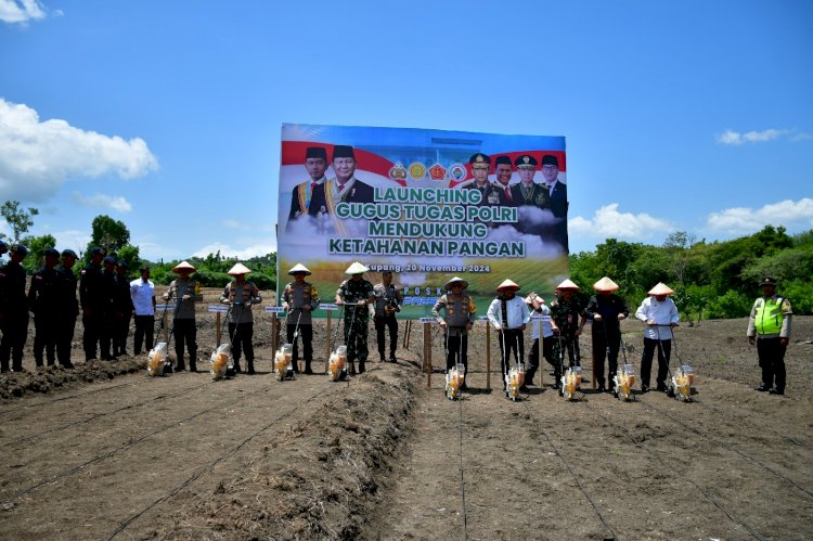
<svg viewBox="0 0 813 541"><path fill-rule="evenodd" d="M46 248L42 253L44 265L31 276L28 288L28 307L34 313L34 361L42 366L42 352L48 358L48 365L56 362L56 326L59 319L60 295L56 262L60 253Z"/></svg>

